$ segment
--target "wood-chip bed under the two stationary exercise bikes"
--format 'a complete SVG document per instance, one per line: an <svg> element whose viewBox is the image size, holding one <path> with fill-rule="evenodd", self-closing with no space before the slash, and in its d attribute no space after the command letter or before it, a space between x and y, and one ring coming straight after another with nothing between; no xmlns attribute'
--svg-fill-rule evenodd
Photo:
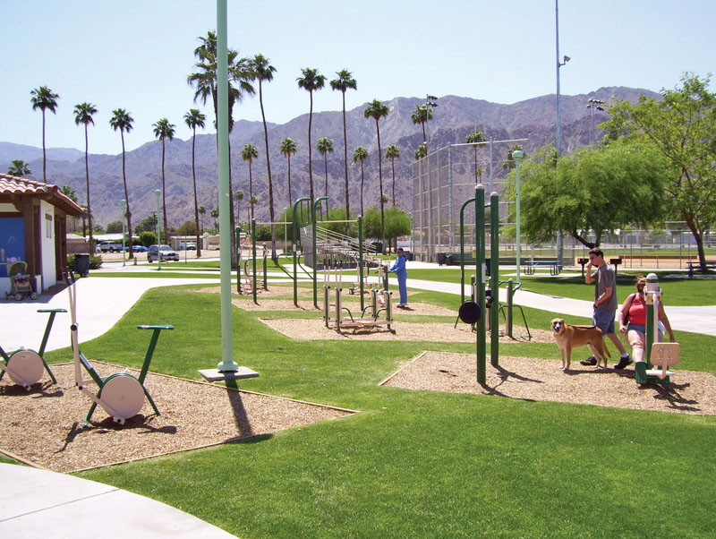
<svg viewBox="0 0 716 539"><path fill-rule="evenodd" d="M102 377L124 371L101 362L93 366ZM52 386L47 374L30 391L8 377L0 382L0 451L57 472L198 449L354 413L150 372L145 385L160 416L145 401L138 415L119 425L98 406L85 428L90 398L74 389L72 364L51 368L62 389Z"/></svg>

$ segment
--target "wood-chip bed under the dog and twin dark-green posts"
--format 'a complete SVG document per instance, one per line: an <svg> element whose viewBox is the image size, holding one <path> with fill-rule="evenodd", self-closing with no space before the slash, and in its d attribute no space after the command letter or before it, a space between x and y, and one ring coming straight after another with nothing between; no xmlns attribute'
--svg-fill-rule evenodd
<svg viewBox="0 0 716 539"><path fill-rule="evenodd" d="M475 355L425 352L405 364L382 385L498 395L500 397L549 400L655 410L695 415L716 415L716 377L708 372L676 371L669 387L640 386L634 371L594 369L572 364L559 370L561 361L527 357L500 357L499 367L487 360L487 382L476 381Z"/></svg>

